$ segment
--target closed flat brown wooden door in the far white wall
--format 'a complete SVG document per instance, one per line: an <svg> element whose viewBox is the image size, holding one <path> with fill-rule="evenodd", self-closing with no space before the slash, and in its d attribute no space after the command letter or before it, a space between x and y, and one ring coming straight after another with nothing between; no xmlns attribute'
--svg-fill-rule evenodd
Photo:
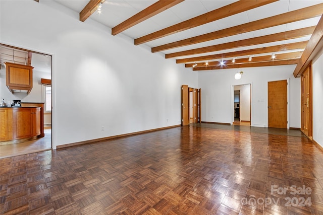
<svg viewBox="0 0 323 215"><path fill-rule="evenodd" d="M268 127L287 128L287 80L268 82Z"/></svg>

